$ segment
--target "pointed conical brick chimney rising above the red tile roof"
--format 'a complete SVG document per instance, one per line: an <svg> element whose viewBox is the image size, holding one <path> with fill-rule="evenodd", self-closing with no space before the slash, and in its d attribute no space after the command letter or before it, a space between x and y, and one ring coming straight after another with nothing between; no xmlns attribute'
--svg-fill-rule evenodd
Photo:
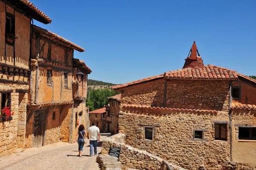
<svg viewBox="0 0 256 170"><path fill-rule="evenodd" d="M203 60L198 52L197 46L194 43L192 44L192 47L189 51L188 57L185 59L185 63L183 66L184 68L191 67L191 68L202 68L204 67Z"/></svg>

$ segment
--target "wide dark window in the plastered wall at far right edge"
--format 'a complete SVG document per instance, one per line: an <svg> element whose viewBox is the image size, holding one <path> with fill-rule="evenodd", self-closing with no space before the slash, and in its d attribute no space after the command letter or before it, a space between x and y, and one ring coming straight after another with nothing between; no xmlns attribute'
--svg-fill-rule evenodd
<svg viewBox="0 0 256 170"><path fill-rule="evenodd" d="M238 139L256 140L256 127L239 127Z"/></svg>

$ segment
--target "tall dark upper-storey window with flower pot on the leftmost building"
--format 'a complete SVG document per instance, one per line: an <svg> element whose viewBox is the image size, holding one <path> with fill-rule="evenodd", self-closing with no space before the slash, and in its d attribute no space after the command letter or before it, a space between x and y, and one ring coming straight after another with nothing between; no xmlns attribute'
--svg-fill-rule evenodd
<svg viewBox="0 0 256 170"><path fill-rule="evenodd" d="M14 41L10 42L7 40L7 37L11 37L11 39L13 39L12 37L15 37L15 20L14 16L9 13L6 14L6 42L12 44Z"/></svg>

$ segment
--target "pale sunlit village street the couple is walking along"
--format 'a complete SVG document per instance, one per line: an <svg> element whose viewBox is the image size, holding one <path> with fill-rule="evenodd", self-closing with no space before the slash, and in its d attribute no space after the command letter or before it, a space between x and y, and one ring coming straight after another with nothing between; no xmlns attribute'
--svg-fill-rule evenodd
<svg viewBox="0 0 256 170"><path fill-rule="evenodd" d="M101 134L98 146L108 136ZM98 147L98 153L101 149ZM100 170L96 156L90 157L89 153L89 141L84 145L82 157L78 156L77 143L59 142L0 157L0 170Z"/></svg>

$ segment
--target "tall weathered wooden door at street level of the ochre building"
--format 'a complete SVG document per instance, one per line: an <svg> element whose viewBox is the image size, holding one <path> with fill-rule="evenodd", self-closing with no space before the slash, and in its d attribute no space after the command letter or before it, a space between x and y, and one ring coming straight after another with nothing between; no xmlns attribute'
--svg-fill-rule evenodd
<svg viewBox="0 0 256 170"><path fill-rule="evenodd" d="M44 145L46 113L46 110L35 111L33 147L41 147Z"/></svg>

